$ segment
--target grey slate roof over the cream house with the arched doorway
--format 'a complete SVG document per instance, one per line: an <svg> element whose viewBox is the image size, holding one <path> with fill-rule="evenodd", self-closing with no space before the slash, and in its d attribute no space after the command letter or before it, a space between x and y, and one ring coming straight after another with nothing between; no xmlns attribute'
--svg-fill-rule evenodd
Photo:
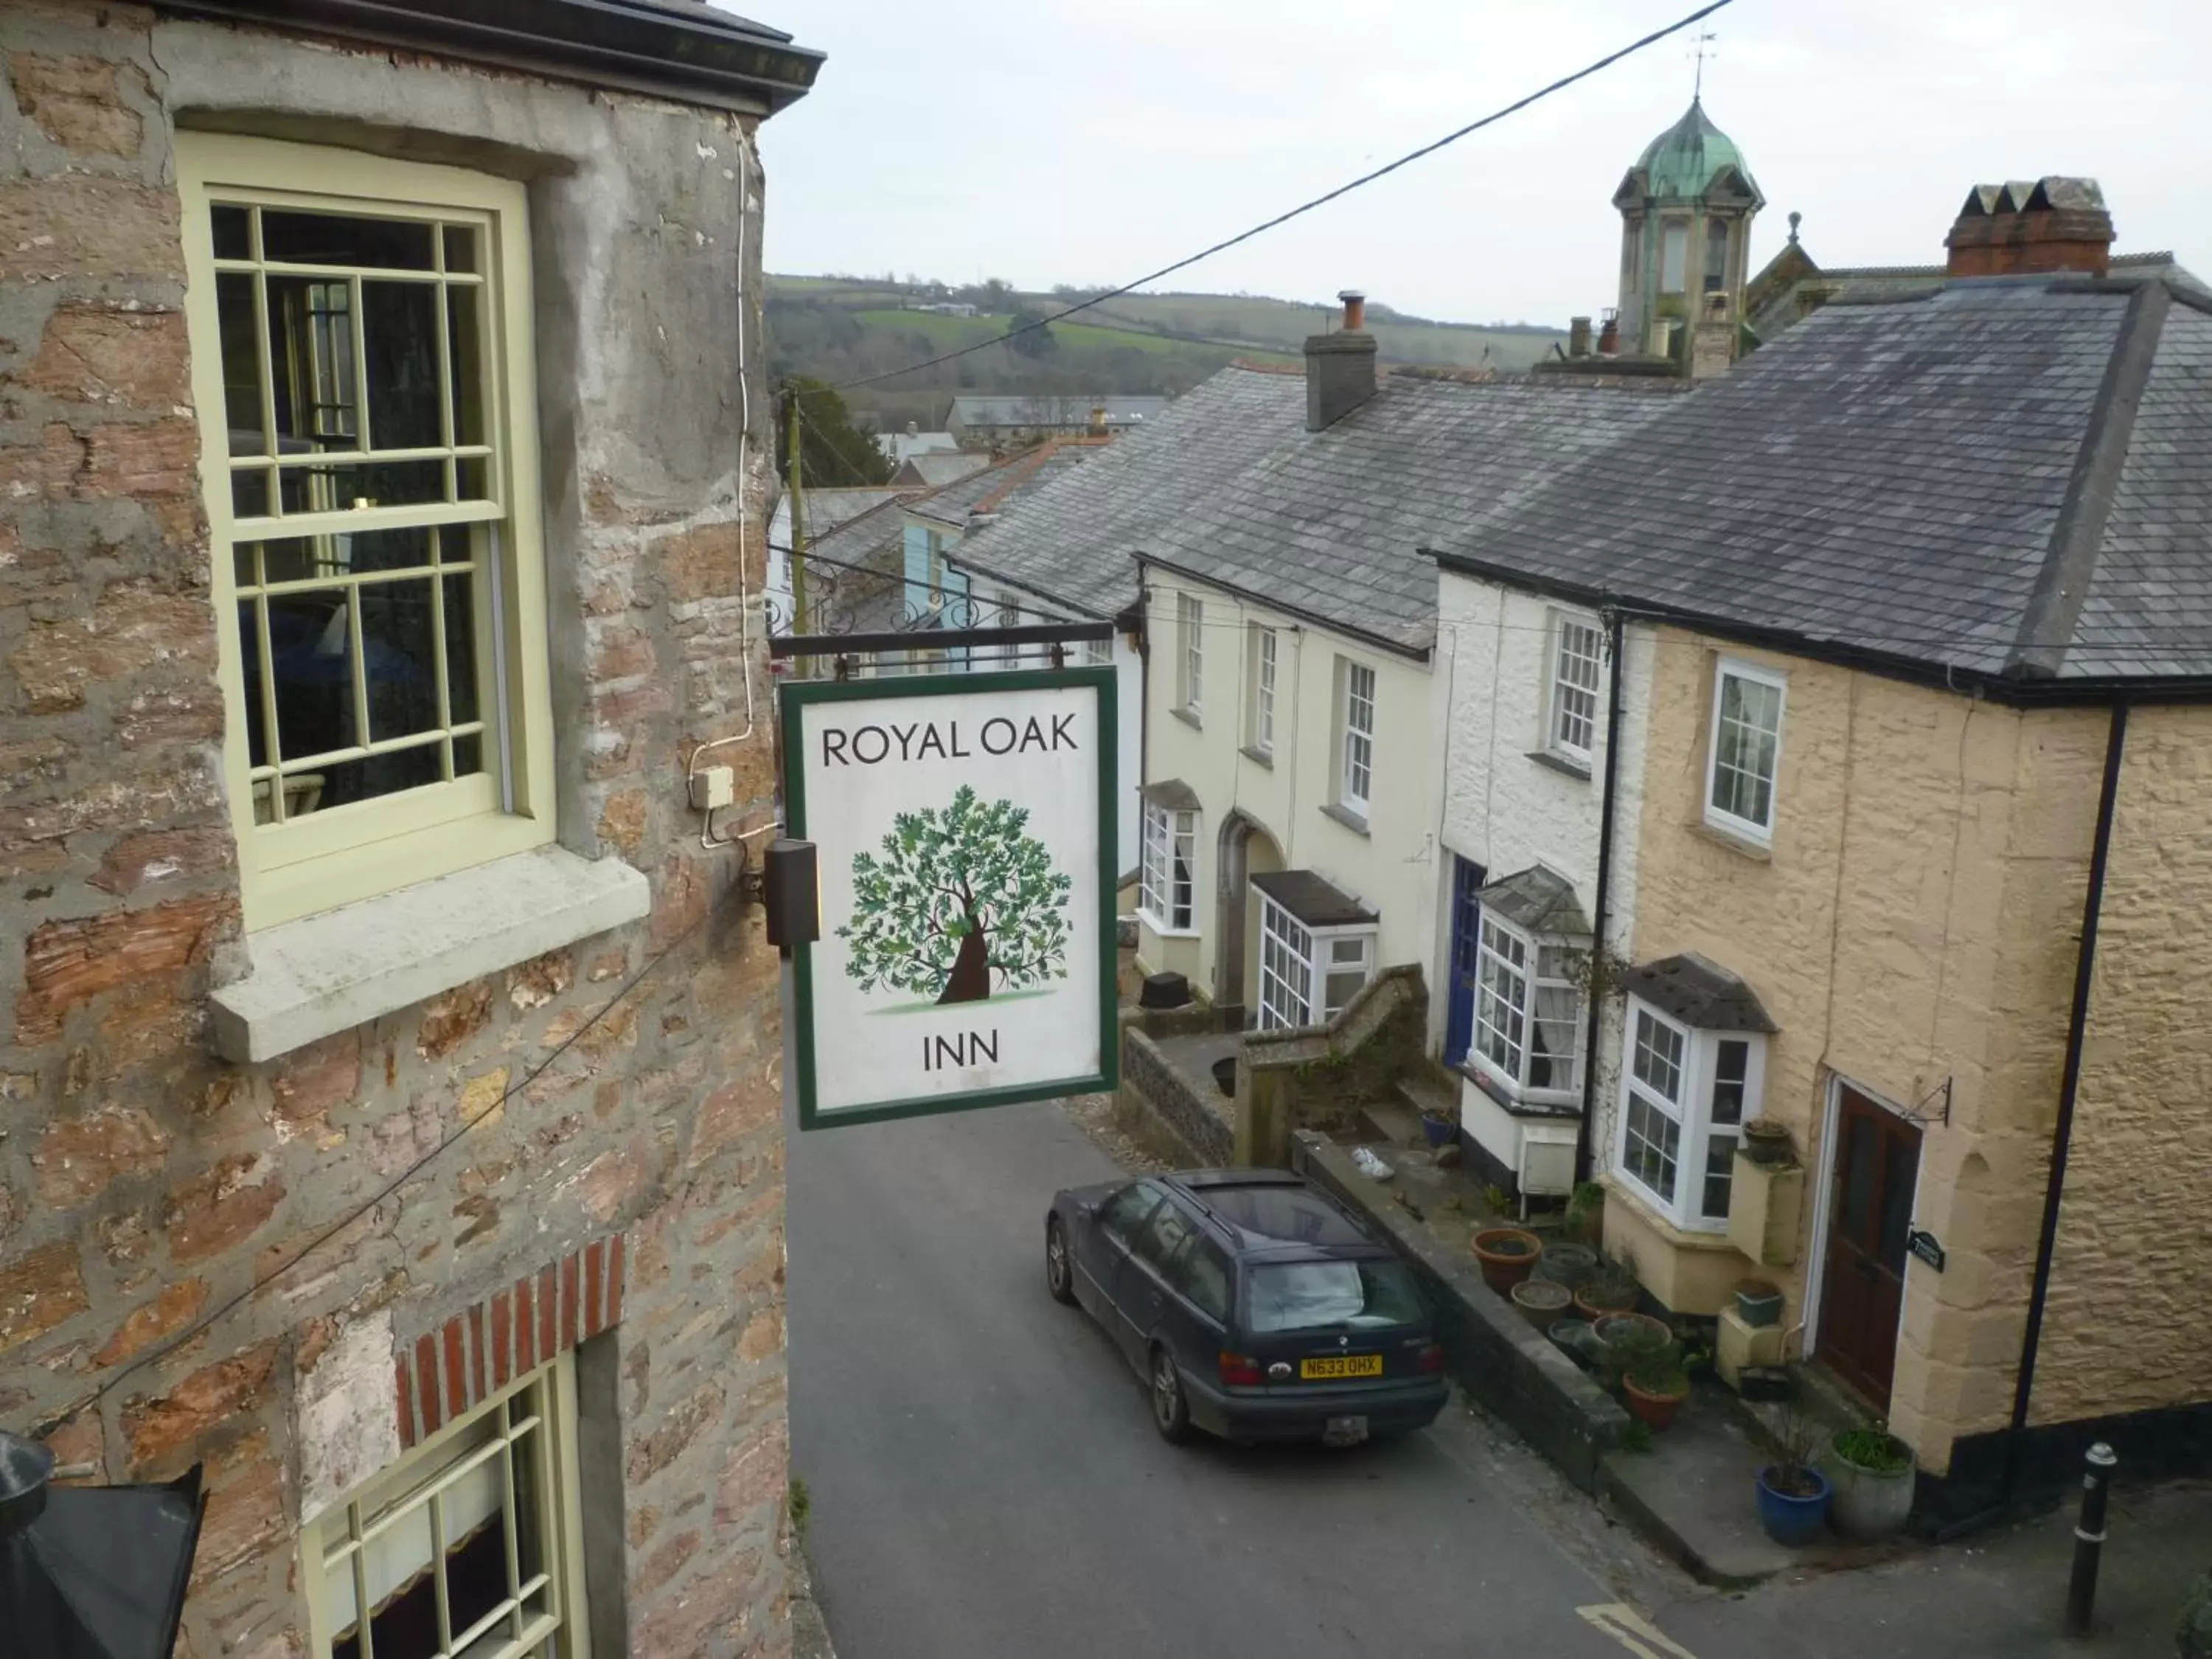
<svg viewBox="0 0 2212 1659"><path fill-rule="evenodd" d="M1301 403L1303 380L1290 380ZM1420 549L1604 453L1686 380L1391 374L1323 431L1294 431L1214 478L1144 538L1148 562L1407 655L1436 641ZM1197 394L1188 394L1197 396ZM1301 411L1303 416L1303 411Z"/></svg>

